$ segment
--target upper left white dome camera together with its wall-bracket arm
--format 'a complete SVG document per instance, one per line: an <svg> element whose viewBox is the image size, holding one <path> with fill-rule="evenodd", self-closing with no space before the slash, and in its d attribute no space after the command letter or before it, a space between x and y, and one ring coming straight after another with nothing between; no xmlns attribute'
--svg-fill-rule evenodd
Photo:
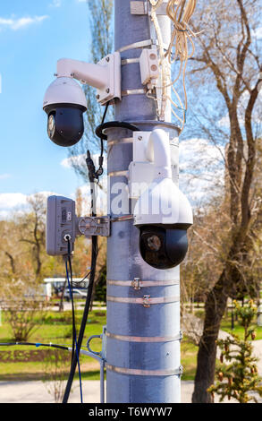
<svg viewBox="0 0 262 421"><path fill-rule="evenodd" d="M108 54L97 64L71 58L61 58L56 64L56 79L47 88L43 109L47 114L49 139L63 147L73 146L84 133L83 113L87 98L81 83L97 88L97 102L101 105L121 99L120 53Z"/></svg>

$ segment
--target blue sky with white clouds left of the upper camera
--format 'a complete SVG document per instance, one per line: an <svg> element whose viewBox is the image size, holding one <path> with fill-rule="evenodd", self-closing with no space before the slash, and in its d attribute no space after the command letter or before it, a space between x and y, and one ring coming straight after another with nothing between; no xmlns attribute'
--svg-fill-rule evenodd
<svg viewBox="0 0 262 421"><path fill-rule="evenodd" d="M61 165L67 151L47 137L42 101L54 80L56 60L87 60L89 43L85 1L1 2L0 212L4 200L8 208L23 195L51 191L68 196L80 185L73 170Z"/></svg>

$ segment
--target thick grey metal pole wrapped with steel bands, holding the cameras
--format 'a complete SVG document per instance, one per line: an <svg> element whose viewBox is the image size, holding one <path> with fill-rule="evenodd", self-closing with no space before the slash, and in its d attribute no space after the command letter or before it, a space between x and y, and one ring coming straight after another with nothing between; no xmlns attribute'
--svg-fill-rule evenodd
<svg viewBox="0 0 262 421"><path fill-rule="evenodd" d="M144 3L144 2L142 2ZM131 14L130 0L114 1L115 50L122 60L138 58L141 48L126 47L151 39L148 15ZM164 41L170 38L170 21L159 17ZM147 42L144 43L146 45ZM149 46L148 46L149 47ZM132 63L131 63L132 62ZM157 122L154 100L141 90L139 64L123 61L123 99L115 106L115 120L128 121L141 131L162 127L172 140L178 156L178 132L167 113L166 122ZM108 129L108 191L112 205L127 185L127 169L132 160L132 133ZM177 175L178 159L174 159ZM123 214L131 213L127 188L122 192ZM119 217L109 210L112 217ZM180 302L179 268L160 271L144 262L139 253L139 229L133 220L112 222L107 243L107 323L106 401L108 403L180 402ZM148 299L156 304L148 305ZM154 301L153 300L153 301Z"/></svg>

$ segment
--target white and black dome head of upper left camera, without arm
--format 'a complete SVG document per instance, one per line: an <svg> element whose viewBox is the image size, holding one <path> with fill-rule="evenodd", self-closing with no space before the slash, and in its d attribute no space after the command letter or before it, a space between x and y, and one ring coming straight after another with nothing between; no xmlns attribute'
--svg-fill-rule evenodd
<svg viewBox="0 0 262 421"><path fill-rule="evenodd" d="M59 146L72 146L80 141L87 99L78 82L71 77L57 77L46 90L43 108L51 141Z"/></svg>

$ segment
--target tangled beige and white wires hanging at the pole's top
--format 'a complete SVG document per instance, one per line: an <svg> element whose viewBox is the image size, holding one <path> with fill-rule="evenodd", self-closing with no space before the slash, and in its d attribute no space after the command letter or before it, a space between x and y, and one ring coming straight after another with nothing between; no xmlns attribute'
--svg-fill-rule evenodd
<svg viewBox="0 0 262 421"><path fill-rule="evenodd" d="M196 9L197 0L169 0L166 6L166 14L173 22L173 31L171 36L170 44L165 51L161 30L159 28L156 10L163 4L163 0L149 0L151 4L151 19L154 23L156 30L156 37L158 40L159 48L159 64L161 68L161 90L162 99L161 107L158 111L160 120L165 119L165 107L166 101L169 100L172 104L172 113L181 124L181 130L183 130L186 123L186 113L188 108L187 92L185 85L186 67L188 60L193 56L195 52L195 46L193 38L198 36L199 33L194 33L190 30L189 21ZM190 45L190 47L189 47ZM172 80L170 73L170 64L176 61L180 61L180 67L177 76ZM176 82L182 78L182 90L184 101L174 88ZM173 90L173 94L176 100L171 98L169 95L168 88ZM177 110L182 110L183 116L177 114Z"/></svg>

